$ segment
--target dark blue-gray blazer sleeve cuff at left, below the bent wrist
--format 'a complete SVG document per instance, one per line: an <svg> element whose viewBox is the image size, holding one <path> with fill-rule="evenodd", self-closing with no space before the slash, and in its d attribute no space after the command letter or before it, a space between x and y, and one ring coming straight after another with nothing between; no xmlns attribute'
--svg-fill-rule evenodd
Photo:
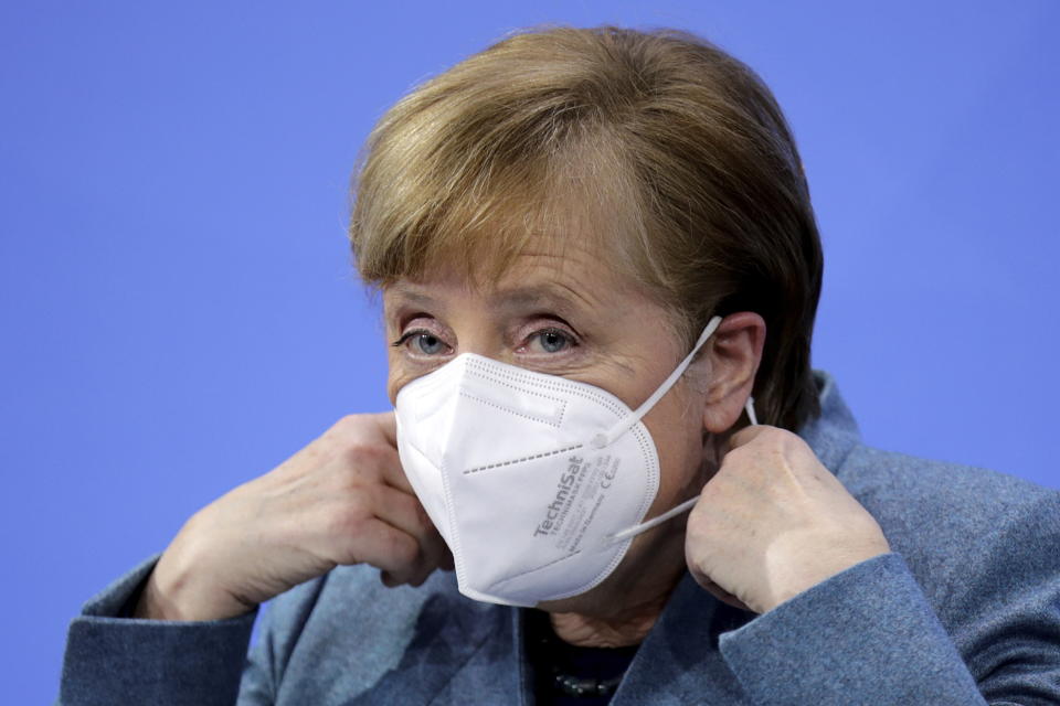
<svg viewBox="0 0 1060 706"><path fill-rule="evenodd" d="M271 670L247 661L256 611L204 622L121 617L156 561L112 584L71 622L59 703L232 706L239 698L247 706L271 704Z"/></svg>

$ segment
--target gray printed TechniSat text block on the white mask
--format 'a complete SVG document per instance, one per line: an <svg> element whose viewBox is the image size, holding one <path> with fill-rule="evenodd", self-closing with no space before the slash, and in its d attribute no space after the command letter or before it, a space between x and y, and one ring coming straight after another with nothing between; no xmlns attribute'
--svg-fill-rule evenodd
<svg viewBox="0 0 1060 706"><path fill-rule="evenodd" d="M574 554L593 524L600 506L618 477L619 458L600 454L571 456L556 482L555 495L544 517L533 531L534 537L551 537L558 549Z"/></svg>

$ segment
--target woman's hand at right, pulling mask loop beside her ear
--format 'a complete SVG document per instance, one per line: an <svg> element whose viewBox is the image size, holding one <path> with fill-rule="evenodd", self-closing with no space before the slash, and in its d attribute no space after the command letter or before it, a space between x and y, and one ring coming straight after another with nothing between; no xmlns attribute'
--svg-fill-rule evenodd
<svg viewBox="0 0 1060 706"><path fill-rule="evenodd" d="M872 515L796 435L749 427L730 448L685 538L689 570L719 599L764 613L890 552Z"/></svg>

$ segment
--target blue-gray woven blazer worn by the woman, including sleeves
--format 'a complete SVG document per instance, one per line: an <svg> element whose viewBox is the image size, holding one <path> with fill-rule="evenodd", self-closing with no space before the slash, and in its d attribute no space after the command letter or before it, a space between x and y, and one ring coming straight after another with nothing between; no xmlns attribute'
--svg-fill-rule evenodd
<svg viewBox="0 0 1060 706"><path fill-rule="evenodd" d="M892 554L753 616L678 585L617 693L632 704L1060 704L1060 493L863 446L834 383L802 431ZM255 616L120 618L146 561L71 623L60 703L532 704L522 611L452 574L338 568Z"/></svg>

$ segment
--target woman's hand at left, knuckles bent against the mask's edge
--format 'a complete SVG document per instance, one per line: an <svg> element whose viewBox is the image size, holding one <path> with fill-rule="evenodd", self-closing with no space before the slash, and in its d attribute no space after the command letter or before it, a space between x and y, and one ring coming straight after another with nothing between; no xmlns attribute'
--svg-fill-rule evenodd
<svg viewBox="0 0 1060 706"><path fill-rule="evenodd" d="M189 520L144 588L136 617L232 618L338 565L421 585L453 558L398 460L393 413L343 417L265 475Z"/></svg>

